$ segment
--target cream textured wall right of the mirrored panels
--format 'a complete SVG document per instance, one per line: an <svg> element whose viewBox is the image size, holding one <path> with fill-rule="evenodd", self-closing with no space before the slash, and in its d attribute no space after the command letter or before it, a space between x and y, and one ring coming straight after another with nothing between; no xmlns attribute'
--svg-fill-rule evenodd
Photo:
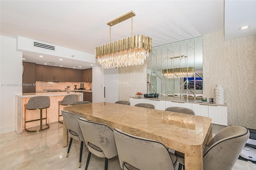
<svg viewBox="0 0 256 170"><path fill-rule="evenodd" d="M224 33L204 36L204 97L223 85L228 125L256 129L256 36L224 41Z"/></svg>

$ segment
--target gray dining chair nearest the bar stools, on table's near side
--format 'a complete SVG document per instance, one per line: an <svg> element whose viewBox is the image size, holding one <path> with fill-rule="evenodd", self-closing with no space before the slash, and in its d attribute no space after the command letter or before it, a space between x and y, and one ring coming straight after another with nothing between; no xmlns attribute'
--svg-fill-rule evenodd
<svg viewBox="0 0 256 170"><path fill-rule="evenodd" d="M65 125L68 129L68 133L70 134L70 142L69 142L69 145L68 145L68 152L67 152L66 157L68 157L73 139L81 141L80 157L79 157L79 168L80 168L81 167L81 160L82 160L83 144L84 144L84 142L86 143L86 141L84 140L84 136L81 132L80 126L78 125L78 118L84 118L84 117L81 116L81 115L77 115L75 113L67 112L67 111L61 111L61 114L63 116L63 120L65 122Z"/></svg>

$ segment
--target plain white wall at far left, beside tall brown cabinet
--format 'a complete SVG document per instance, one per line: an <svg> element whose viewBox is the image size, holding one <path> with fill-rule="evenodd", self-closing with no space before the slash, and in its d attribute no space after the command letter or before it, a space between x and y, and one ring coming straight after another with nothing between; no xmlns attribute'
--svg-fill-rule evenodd
<svg viewBox="0 0 256 170"><path fill-rule="evenodd" d="M22 52L16 51L16 39L4 36L0 39L0 134L2 134L15 131L15 95L22 94Z"/></svg>

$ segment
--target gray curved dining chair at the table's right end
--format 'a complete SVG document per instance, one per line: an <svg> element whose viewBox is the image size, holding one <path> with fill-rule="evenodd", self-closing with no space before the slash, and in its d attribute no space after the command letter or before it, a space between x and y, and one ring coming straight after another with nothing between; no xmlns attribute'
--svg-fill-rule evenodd
<svg viewBox="0 0 256 170"><path fill-rule="evenodd" d="M249 130L242 126L220 130L204 148L204 170L231 170L249 136ZM184 165L184 154L176 156Z"/></svg>

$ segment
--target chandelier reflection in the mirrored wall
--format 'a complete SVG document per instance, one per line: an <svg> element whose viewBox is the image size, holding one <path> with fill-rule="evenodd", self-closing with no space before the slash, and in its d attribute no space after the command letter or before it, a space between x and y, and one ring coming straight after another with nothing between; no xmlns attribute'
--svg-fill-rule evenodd
<svg viewBox="0 0 256 170"><path fill-rule="evenodd" d="M195 67L182 67L174 69L162 69L162 74L167 79L194 77Z"/></svg>

